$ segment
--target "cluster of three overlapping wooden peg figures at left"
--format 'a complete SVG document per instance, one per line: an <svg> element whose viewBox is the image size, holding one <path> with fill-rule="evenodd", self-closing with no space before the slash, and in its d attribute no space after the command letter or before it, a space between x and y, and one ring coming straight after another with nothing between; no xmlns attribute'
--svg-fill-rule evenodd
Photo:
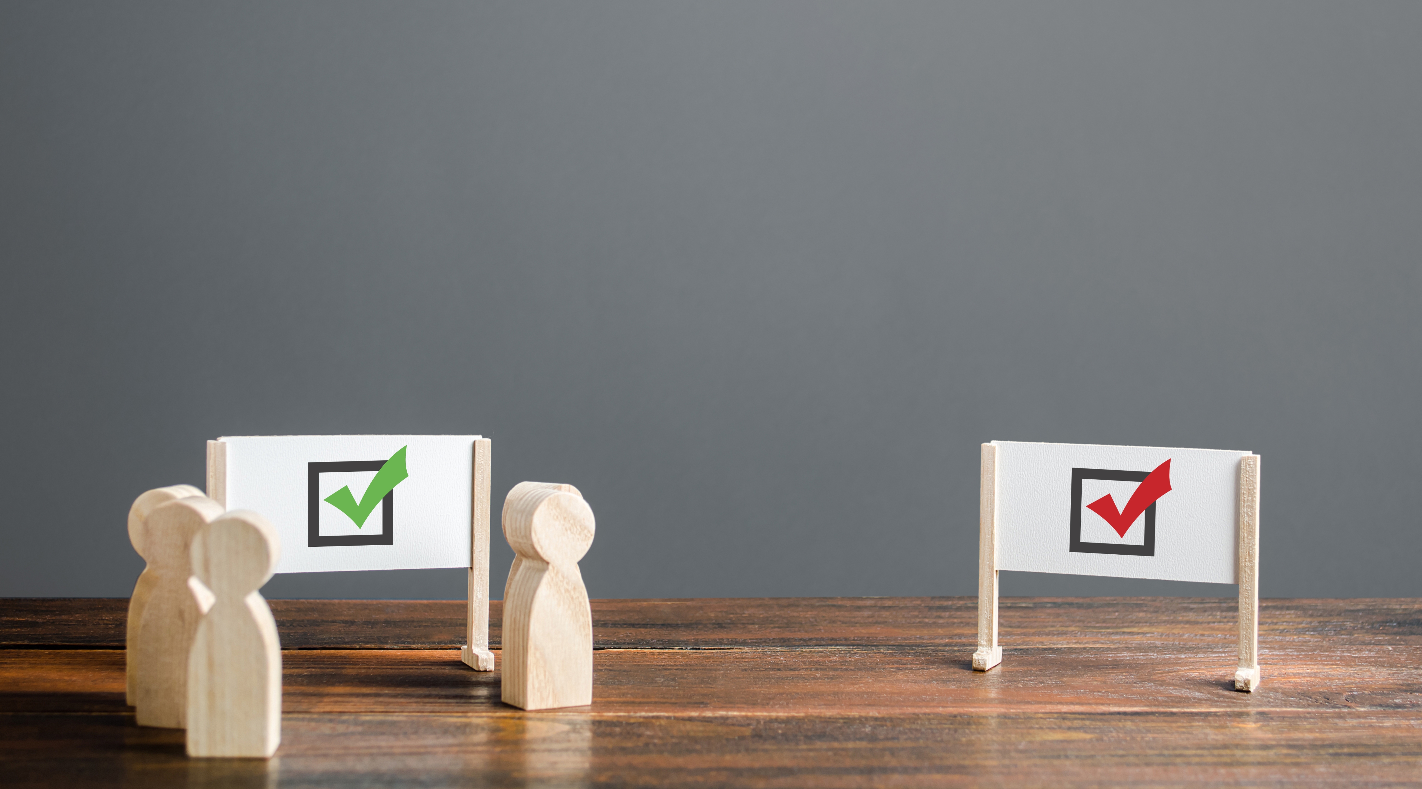
<svg viewBox="0 0 1422 789"><path fill-rule="evenodd" d="M282 645L257 593L276 529L191 485L128 510L148 562L128 601L128 704L141 726L186 729L189 756L270 756L282 741Z"/></svg>

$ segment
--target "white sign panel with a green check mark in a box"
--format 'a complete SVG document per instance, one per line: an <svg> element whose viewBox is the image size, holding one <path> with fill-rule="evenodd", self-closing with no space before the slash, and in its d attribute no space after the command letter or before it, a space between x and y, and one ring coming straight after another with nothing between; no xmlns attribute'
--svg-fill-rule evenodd
<svg viewBox="0 0 1422 789"><path fill-rule="evenodd" d="M277 573L468 567L478 438L219 438L209 488L276 526Z"/></svg>

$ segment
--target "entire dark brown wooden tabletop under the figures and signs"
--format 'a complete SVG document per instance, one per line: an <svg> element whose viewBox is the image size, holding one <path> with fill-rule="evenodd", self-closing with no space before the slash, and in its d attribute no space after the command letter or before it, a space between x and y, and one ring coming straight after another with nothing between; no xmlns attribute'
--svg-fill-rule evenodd
<svg viewBox="0 0 1422 789"><path fill-rule="evenodd" d="M1422 782L1422 600L594 600L590 708L459 662L464 603L273 600L270 762L124 705L127 600L0 600L0 786L1064 786ZM498 644L499 603L491 638ZM498 654L498 653L495 653Z"/></svg>

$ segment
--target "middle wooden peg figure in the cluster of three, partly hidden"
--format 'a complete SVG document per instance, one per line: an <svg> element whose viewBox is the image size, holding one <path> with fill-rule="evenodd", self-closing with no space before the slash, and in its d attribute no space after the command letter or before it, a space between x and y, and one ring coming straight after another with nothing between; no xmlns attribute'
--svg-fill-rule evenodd
<svg viewBox="0 0 1422 789"><path fill-rule="evenodd" d="M192 579L192 539L222 515L206 496L188 496L154 508L141 540L154 574L128 655L135 718L141 726L183 728L188 711L188 650L210 593ZM189 583L192 581L192 583Z"/></svg>

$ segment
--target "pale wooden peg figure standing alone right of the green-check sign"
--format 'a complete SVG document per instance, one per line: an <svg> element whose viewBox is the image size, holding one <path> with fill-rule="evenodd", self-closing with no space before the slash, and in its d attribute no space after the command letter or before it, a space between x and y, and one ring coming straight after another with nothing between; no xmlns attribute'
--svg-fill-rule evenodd
<svg viewBox="0 0 1422 789"><path fill-rule="evenodd" d="M593 702L593 616L577 571L593 533L593 510L572 485L520 482L503 500L515 553L503 587L505 704Z"/></svg>

